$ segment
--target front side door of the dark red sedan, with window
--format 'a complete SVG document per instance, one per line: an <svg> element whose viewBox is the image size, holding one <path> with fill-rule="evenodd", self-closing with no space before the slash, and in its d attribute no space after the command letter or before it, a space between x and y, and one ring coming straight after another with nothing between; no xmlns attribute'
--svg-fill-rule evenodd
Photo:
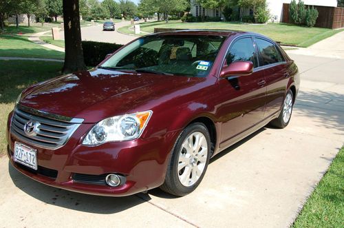
<svg viewBox="0 0 344 228"><path fill-rule="evenodd" d="M235 75L219 79L222 105L219 115L222 120L222 145L232 143L239 136L264 118L266 85L263 70L259 66L257 50L252 37L237 39L230 46L223 67L235 61L252 61L253 73L249 76Z"/></svg>

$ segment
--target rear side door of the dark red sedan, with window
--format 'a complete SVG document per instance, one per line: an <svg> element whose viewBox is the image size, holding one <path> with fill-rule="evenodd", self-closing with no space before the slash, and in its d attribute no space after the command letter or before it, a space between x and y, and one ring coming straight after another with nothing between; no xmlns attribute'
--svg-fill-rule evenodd
<svg viewBox="0 0 344 228"><path fill-rule="evenodd" d="M272 116L281 110L289 74L287 63L279 48L267 39L255 37L259 50L259 65L264 68L266 80L266 112L264 116Z"/></svg>

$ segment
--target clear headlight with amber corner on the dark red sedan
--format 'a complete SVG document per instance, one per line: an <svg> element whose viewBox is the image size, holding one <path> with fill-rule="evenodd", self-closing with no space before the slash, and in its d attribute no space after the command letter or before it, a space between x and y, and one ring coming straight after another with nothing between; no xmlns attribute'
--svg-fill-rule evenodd
<svg viewBox="0 0 344 228"><path fill-rule="evenodd" d="M107 142L127 141L141 136L151 111L137 112L106 118L88 132L83 145L100 145Z"/></svg>

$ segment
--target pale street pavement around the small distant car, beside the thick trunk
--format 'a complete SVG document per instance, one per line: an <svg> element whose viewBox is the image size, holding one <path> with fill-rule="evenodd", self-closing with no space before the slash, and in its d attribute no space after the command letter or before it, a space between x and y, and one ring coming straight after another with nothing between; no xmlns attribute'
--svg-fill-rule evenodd
<svg viewBox="0 0 344 228"><path fill-rule="evenodd" d="M118 28L130 25L130 21L121 21L115 24L116 31L103 31L103 25L83 27L81 28L81 38L83 41L98 41L118 44L126 44L137 38L117 32ZM64 39L65 34L60 32L60 37L61 39Z"/></svg>

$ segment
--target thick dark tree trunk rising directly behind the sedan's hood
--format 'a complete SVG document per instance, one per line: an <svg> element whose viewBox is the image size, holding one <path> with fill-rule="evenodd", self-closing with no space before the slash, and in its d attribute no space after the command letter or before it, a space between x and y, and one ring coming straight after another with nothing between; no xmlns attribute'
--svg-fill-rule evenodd
<svg viewBox="0 0 344 228"><path fill-rule="evenodd" d="M63 0L63 25L65 28L65 63L62 71L67 73L85 70L78 0Z"/></svg>

